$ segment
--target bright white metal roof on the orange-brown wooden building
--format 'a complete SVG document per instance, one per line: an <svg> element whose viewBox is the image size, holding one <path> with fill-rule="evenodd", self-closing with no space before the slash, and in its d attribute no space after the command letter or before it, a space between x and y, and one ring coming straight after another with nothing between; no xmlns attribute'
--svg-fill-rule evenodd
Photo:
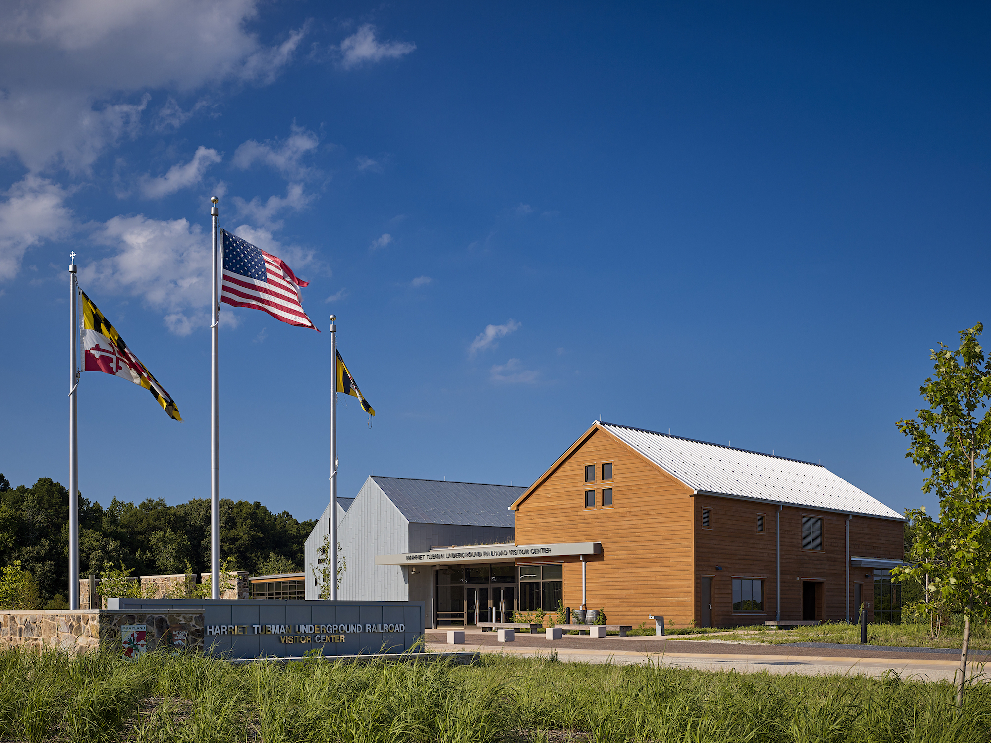
<svg viewBox="0 0 991 743"><path fill-rule="evenodd" d="M600 421L609 433L703 493L903 519L822 465Z"/></svg>

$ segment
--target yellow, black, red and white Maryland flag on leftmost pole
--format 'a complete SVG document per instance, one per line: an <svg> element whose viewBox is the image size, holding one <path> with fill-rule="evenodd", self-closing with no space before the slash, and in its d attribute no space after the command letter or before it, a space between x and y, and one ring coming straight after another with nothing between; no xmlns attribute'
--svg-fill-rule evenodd
<svg viewBox="0 0 991 743"><path fill-rule="evenodd" d="M131 353L120 333L107 322L86 292L80 289L79 293L82 295L82 371L103 371L140 384L155 395L170 418L182 420L174 400L159 380Z"/></svg>

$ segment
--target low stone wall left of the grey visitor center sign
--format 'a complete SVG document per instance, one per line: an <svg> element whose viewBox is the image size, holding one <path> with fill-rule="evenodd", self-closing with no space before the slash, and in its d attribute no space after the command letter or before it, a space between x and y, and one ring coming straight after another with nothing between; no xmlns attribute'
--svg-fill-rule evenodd
<svg viewBox="0 0 991 743"><path fill-rule="evenodd" d="M133 612L108 609L0 611L0 650L54 648L78 654L98 647L120 648L121 628L142 624L146 626L147 652L162 644L174 649L203 650L202 610ZM176 638L184 639L184 644L176 645Z"/></svg>

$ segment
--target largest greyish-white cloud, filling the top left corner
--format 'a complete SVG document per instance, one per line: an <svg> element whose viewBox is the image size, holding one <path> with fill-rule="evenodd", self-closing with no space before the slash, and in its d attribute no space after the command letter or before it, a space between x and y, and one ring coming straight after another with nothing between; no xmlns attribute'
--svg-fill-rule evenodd
<svg viewBox="0 0 991 743"><path fill-rule="evenodd" d="M0 155L32 172L86 171L141 125L150 88L271 82L305 33L275 47L249 33L259 0L32 0L0 24ZM136 96L141 96L140 98ZM173 117L173 121L174 121Z"/></svg>

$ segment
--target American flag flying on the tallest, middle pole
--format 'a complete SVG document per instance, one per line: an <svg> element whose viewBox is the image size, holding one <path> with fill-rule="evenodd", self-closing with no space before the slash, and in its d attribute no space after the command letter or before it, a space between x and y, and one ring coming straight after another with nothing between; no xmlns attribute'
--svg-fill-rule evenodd
<svg viewBox="0 0 991 743"><path fill-rule="evenodd" d="M289 325L320 330L303 312L299 286L292 268L237 235L221 230L224 238L224 279L220 301L235 307L254 307Z"/></svg>

